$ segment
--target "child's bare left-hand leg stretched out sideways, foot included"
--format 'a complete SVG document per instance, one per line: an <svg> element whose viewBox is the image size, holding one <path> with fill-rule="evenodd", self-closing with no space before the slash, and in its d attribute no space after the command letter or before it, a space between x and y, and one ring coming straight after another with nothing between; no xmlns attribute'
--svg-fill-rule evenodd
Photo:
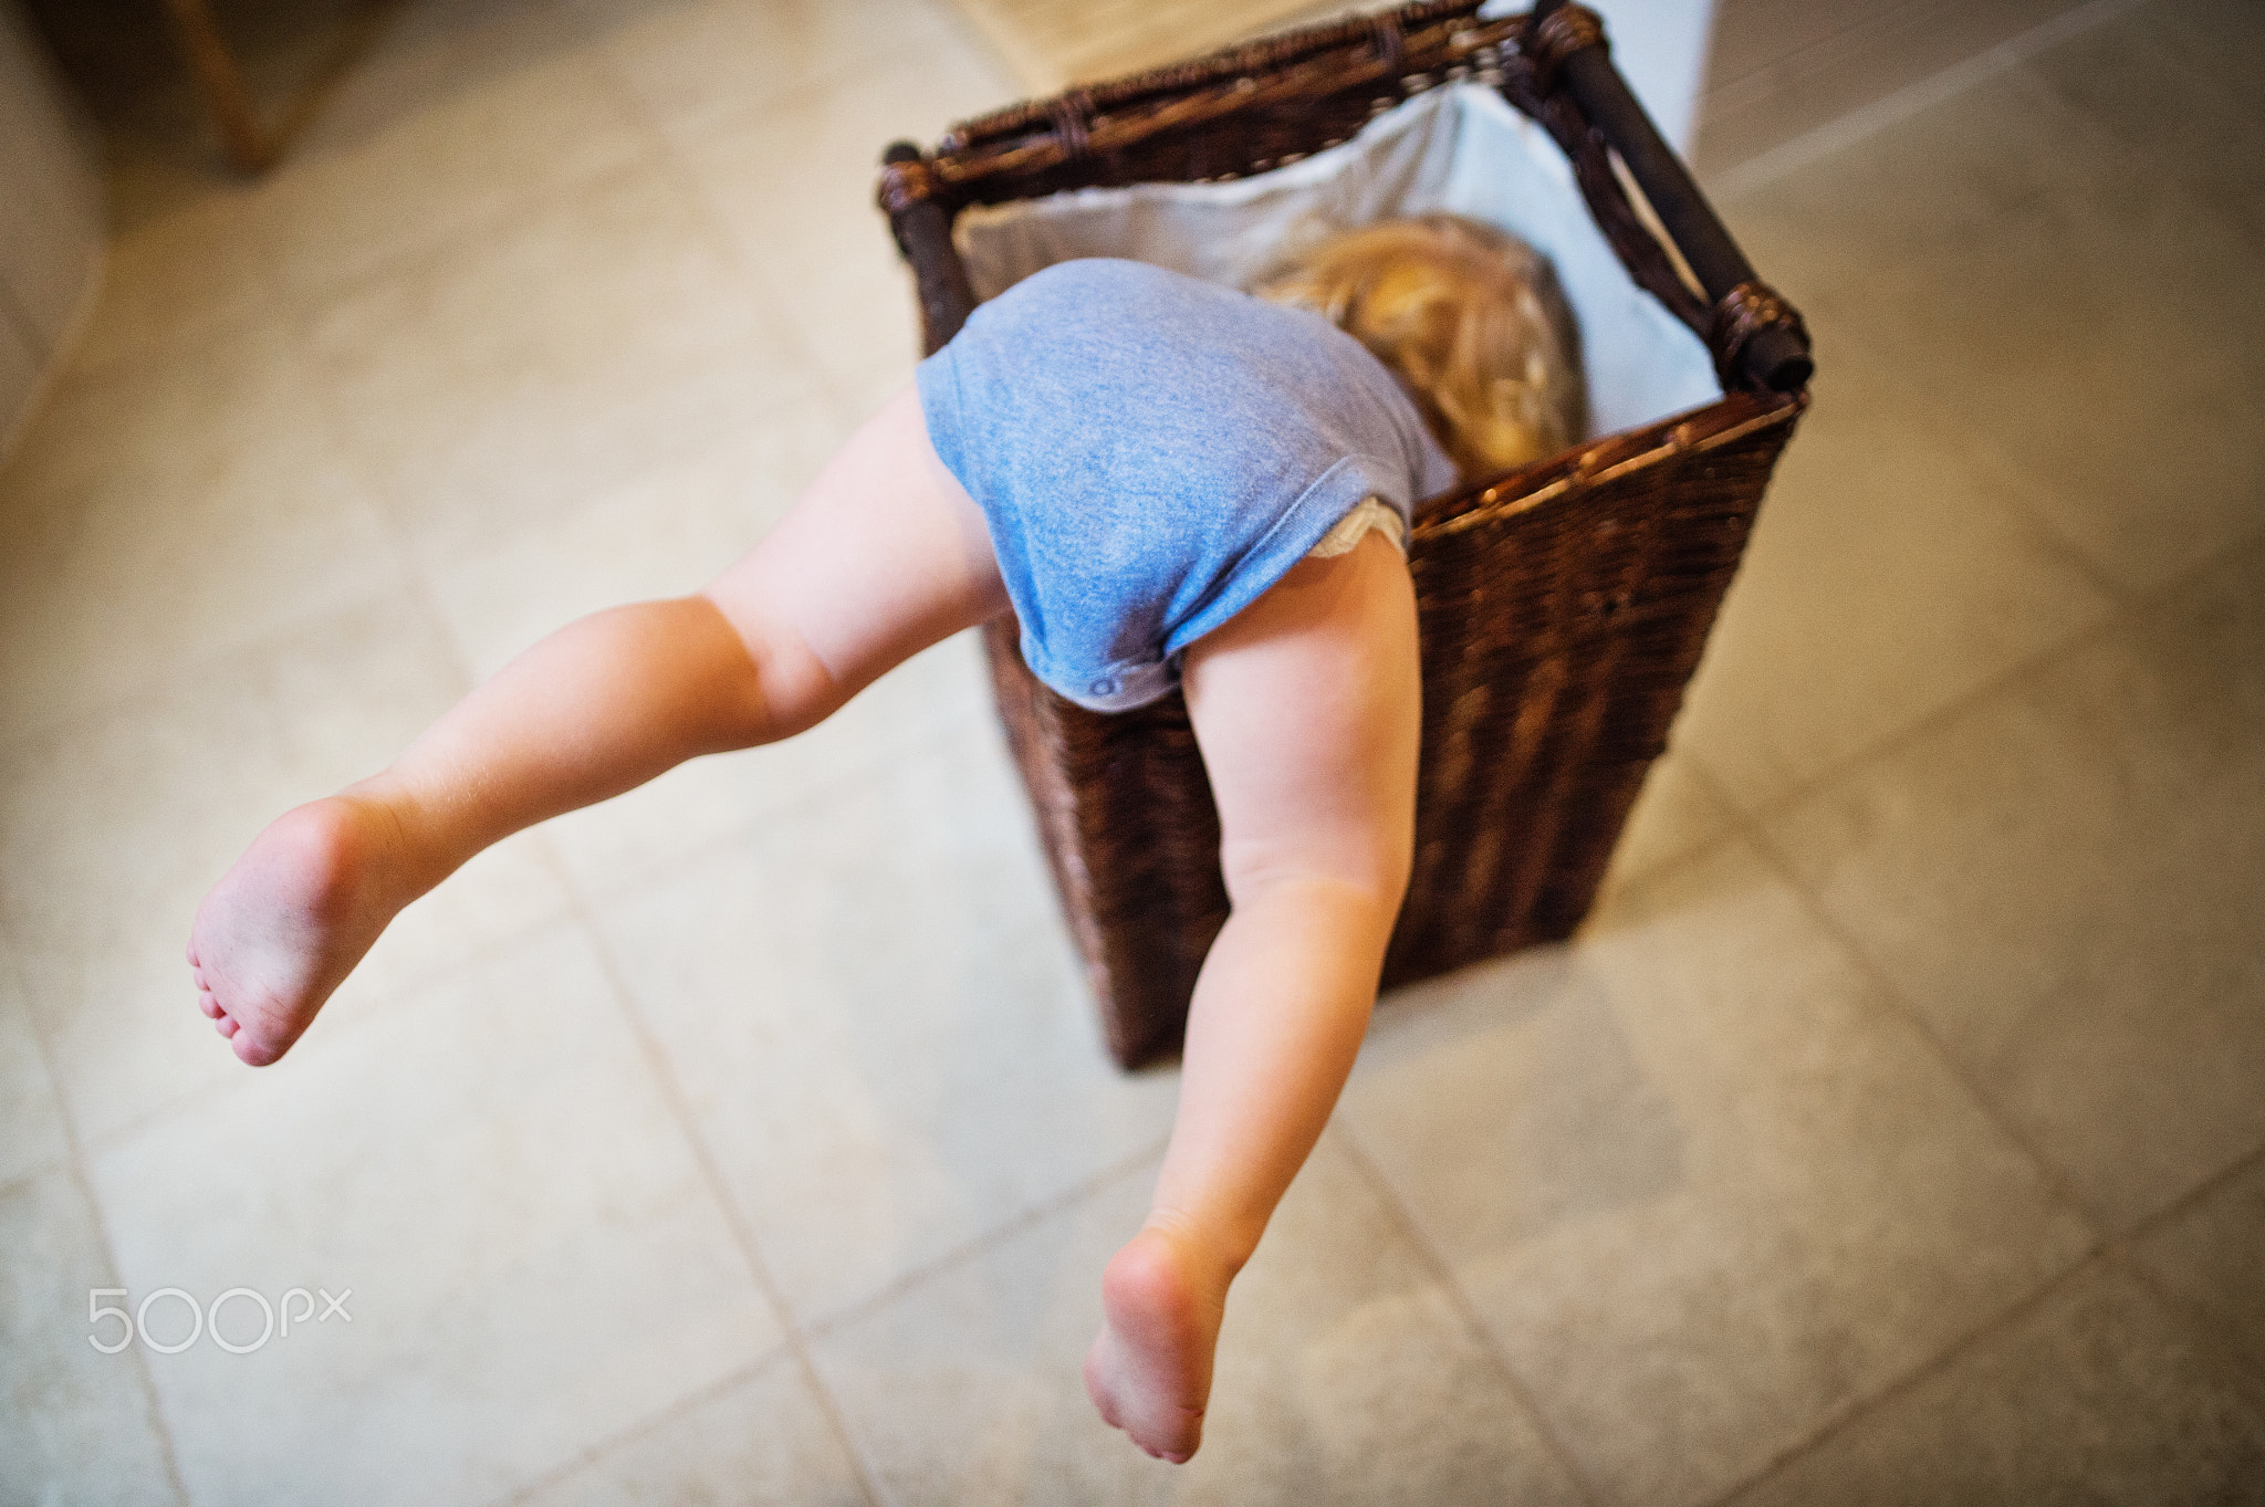
<svg viewBox="0 0 2265 1507"><path fill-rule="evenodd" d="M487 844L797 733L1003 609L983 516L908 387L707 591L569 625L390 769L260 833L197 910L199 1007L240 1059L270 1063L394 914Z"/></svg>

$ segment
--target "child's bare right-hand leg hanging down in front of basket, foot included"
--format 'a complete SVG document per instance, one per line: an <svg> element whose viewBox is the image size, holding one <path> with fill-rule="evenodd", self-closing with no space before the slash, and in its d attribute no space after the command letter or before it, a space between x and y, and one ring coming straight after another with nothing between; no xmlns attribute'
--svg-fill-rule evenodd
<svg viewBox="0 0 2265 1507"><path fill-rule="evenodd" d="M1416 817L1416 597L1379 536L1305 561L1187 661L1234 910L1187 1018L1142 1231L1103 1274L1085 1387L1164 1459L1203 1439L1228 1283L1327 1122L1377 993Z"/></svg>

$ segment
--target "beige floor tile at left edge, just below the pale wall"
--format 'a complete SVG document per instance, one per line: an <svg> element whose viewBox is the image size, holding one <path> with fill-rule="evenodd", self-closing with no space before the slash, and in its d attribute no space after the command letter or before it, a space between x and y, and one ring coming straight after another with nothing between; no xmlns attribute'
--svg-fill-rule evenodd
<svg viewBox="0 0 2265 1507"><path fill-rule="evenodd" d="M68 484L0 509L0 722L14 738L408 579L288 326L72 380L41 446Z"/></svg>

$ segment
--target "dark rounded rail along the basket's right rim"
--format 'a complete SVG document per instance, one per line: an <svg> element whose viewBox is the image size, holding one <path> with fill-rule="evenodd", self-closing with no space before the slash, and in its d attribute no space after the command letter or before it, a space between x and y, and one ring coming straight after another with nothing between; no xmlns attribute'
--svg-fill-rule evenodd
<svg viewBox="0 0 2265 1507"><path fill-rule="evenodd" d="M1542 75L1542 93L1563 81L1597 134L1629 165L1629 176L1644 190L1676 251L1706 287L1715 305L1710 344L1724 387L1740 378L1771 391L1807 387L1817 362L1810 360L1801 315L1753 276L1753 262L1629 93L1608 57L1597 14L1570 0L1533 0L1522 50Z"/></svg>

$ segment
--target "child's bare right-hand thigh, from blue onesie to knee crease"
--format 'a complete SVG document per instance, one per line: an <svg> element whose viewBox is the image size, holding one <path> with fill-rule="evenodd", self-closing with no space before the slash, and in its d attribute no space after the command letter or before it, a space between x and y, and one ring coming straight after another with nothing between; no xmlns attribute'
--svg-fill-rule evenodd
<svg viewBox="0 0 2265 1507"><path fill-rule="evenodd" d="M1300 561L1189 647L1185 686L1228 892L1300 873L1398 903L1422 713L1416 591L1400 550L1370 534L1336 559Z"/></svg>

